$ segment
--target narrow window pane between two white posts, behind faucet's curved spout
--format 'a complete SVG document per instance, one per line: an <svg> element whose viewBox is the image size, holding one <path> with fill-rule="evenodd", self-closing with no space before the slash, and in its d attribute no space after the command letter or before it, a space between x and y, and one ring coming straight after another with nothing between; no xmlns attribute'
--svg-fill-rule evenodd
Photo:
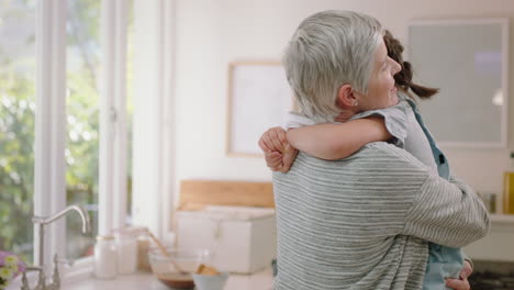
<svg viewBox="0 0 514 290"><path fill-rule="evenodd" d="M98 233L100 0L67 0L67 203L89 211L91 233L83 235L80 217L66 222L66 256L92 255Z"/></svg>

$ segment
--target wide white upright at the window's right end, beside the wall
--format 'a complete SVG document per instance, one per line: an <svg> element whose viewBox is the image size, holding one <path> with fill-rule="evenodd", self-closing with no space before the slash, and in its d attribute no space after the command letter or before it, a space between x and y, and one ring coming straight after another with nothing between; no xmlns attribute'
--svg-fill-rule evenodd
<svg viewBox="0 0 514 290"><path fill-rule="evenodd" d="M174 238L176 0L134 0L132 220Z"/></svg>

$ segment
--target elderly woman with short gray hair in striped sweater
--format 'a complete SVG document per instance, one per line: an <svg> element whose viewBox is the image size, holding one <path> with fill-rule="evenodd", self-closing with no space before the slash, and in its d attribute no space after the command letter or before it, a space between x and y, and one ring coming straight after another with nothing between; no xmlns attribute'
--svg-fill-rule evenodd
<svg viewBox="0 0 514 290"><path fill-rule="evenodd" d="M283 64L304 116L348 120L398 103L400 66L388 57L382 35L377 20L348 11L320 12L300 24ZM401 127L388 130L402 135ZM371 135L380 133L391 137L387 131ZM353 152L367 143L359 142ZM468 186L388 143L367 144L336 161L300 153L288 174L273 175L273 187L276 289L422 289L428 242L461 247L489 228Z"/></svg>

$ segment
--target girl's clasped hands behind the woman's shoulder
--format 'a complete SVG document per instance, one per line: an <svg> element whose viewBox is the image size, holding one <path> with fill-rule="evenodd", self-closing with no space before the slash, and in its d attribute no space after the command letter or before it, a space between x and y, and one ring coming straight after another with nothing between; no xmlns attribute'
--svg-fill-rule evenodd
<svg viewBox="0 0 514 290"><path fill-rule="evenodd" d="M271 127L259 140L259 147L265 153L266 165L273 171L287 172L297 158L298 149L293 148L282 127Z"/></svg>

